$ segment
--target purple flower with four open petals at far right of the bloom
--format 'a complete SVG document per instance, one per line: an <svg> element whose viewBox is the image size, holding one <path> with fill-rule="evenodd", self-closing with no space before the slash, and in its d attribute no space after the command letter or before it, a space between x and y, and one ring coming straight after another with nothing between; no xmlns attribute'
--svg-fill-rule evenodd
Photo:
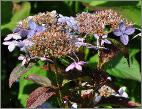
<svg viewBox="0 0 142 109"><path fill-rule="evenodd" d="M124 22L121 22L119 24L119 28L118 29L115 29L113 31L114 35L116 36L119 36L120 37L120 40L121 42L124 44L124 45L127 45L128 42L129 42L129 37L128 35L131 35L135 32L135 28L134 27L126 27Z"/></svg>

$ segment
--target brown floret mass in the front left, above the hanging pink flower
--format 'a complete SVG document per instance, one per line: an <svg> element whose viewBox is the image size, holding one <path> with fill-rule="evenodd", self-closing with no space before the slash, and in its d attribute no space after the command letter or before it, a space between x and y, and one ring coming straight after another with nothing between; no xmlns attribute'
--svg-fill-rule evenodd
<svg viewBox="0 0 142 109"><path fill-rule="evenodd" d="M59 25L52 25L46 32L32 37L34 45L29 49L32 57L60 57L76 50L75 44Z"/></svg>

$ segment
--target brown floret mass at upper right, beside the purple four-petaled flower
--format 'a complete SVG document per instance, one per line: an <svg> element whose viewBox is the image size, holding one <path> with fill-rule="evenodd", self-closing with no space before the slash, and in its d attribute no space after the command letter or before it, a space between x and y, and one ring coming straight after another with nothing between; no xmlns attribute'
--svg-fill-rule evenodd
<svg viewBox="0 0 142 109"><path fill-rule="evenodd" d="M96 33L100 36L105 34L104 29L107 25L110 25L111 30L117 28L121 20L128 25L125 19L122 19L117 12L111 9L98 10L92 14L83 12L77 15L76 20L81 33Z"/></svg>

